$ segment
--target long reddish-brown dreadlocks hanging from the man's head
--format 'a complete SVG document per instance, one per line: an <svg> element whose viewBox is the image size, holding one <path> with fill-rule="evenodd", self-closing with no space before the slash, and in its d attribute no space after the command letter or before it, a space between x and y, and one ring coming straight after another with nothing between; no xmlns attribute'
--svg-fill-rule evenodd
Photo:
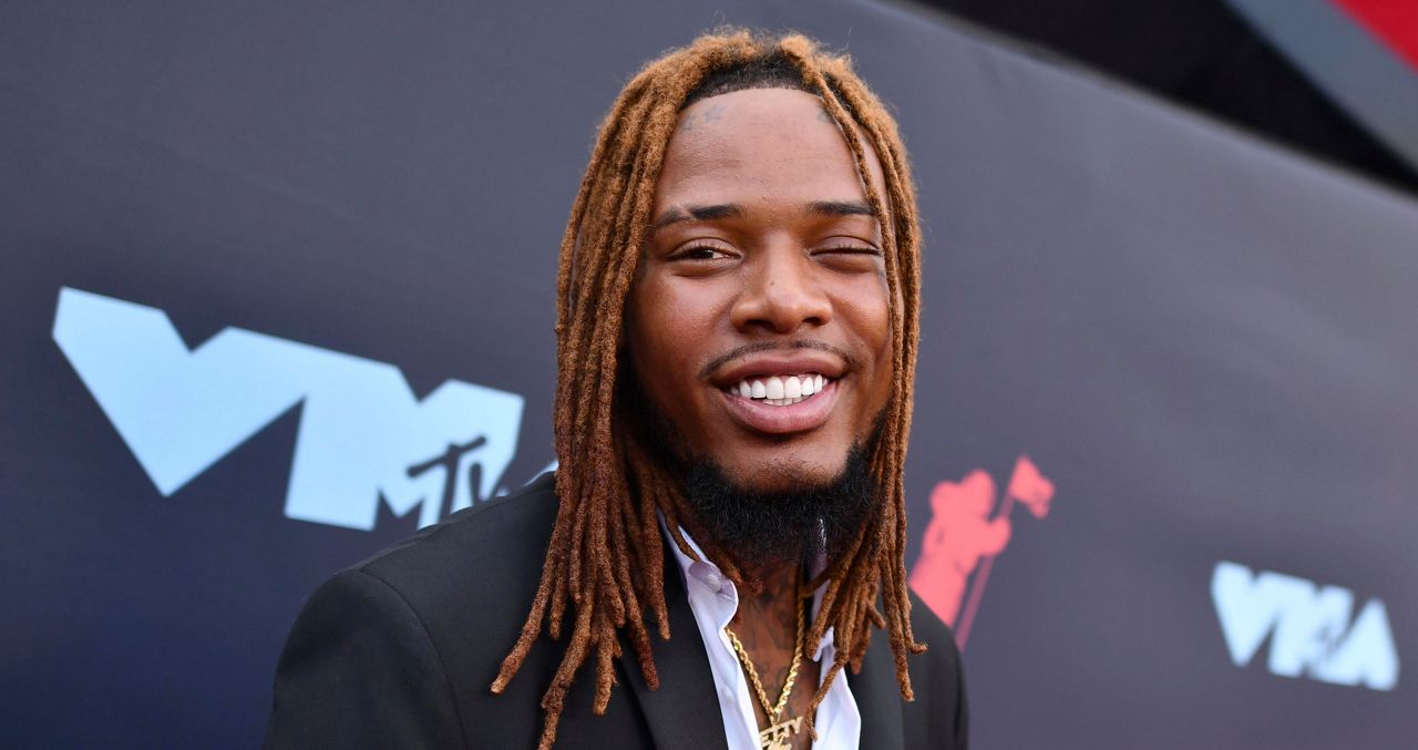
<svg viewBox="0 0 1418 750"><path fill-rule="evenodd" d="M647 441L627 424L623 398L617 398L621 373L617 354L625 299L676 118L695 99L743 88L797 88L822 99L855 156L875 216L883 217L879 221L888 295L900 302L891 305L892 397L881 437L868 447L875 502L855 539L807 587L811 593L825 586L807 642L817 642L827 628L835 628L837 647L807 713L808 729L842 666L861 669L871 625L888 632L900 693L906 700L913 699L906 655L925 651L925 645L915 641L910 628L902 474L916 366L920 231L906 152L895 121L856 78L849 58L825 52L795 34L764 37L726 30L649 62L621 91L601 123L562 238L554 405L560 508L532 608L492 682L493 693L506 688L543 627L553 639L569 627L570 642L542 698L543 749L556 739L576 672L593 658L594 712L605 712L615 683L614 659L621 654L618 635L625 635L635 649L645 682L651 688L659 685L649 627L668 639L669 618L657 512L664 515L672 542L686 556L698 559L681 526L708 540L696 530L679 479L666 472ZM868 147L881 160L885 196L869 176ZM732 550L710 544L705 554L736 584L750 590L760 586L743 566L735 564Z"/></svg>

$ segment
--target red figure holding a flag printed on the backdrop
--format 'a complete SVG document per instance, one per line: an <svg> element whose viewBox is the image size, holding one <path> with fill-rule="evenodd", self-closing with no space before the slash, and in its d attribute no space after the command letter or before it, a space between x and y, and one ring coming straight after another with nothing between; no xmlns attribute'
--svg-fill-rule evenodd
<svg viewBox="0 0 1418 750"><path fill-rule="evenodd" d="M961 649L994 559L1010 543L1010 512L1018 503L1042 519L1052 499L1054 482L1025 455L1014 462L998 503L994 479L983 469L959 482L940 482L930 492L930 523L909 583L930 611L954 628Z"/></svg>

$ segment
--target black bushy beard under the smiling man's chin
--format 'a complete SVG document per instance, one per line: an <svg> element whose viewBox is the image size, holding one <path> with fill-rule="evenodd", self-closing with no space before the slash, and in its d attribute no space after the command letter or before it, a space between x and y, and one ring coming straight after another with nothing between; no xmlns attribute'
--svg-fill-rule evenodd
<svg viewBox="0 0 1418 750"><path fill-rule="evenodd" d="M683 462L685 500L703 542L733 557L746 571L835 560L868 520L875 486L866 449L854 445L842 471L825 483L804 485L794 465L763 469L787 491L757 491L730 479L712 459Z"/></svg>

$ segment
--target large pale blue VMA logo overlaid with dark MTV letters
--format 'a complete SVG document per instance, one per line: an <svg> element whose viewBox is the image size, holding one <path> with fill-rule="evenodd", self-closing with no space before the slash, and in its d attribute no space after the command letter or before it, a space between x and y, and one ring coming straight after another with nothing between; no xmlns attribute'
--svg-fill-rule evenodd
<svg viewBox="0 0 1418 750"><path fill-rule="evenodd" d="M292 519L370 530L383 498L425 526L491 496L516 451L513 393L448 380L420 401L393 364L235 328L189 350L163 310L69 288L54 340L164 496L298 404Z"/></svg>

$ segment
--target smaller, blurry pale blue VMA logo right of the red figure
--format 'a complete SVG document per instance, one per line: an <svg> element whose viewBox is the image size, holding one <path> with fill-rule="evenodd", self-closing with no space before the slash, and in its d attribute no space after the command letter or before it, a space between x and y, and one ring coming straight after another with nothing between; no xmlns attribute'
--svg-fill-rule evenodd
<svg viewBox="0 0 1418 750"><path fill-rule="evenodd" d="M1337 586L1221 561L1211 576L1211 598L1236 666L1245 666L1271 638L1266 668L1286 678L1392 690L1398 651L1388 610L1373 598L1350 621L1354 594Z"/></svg>

